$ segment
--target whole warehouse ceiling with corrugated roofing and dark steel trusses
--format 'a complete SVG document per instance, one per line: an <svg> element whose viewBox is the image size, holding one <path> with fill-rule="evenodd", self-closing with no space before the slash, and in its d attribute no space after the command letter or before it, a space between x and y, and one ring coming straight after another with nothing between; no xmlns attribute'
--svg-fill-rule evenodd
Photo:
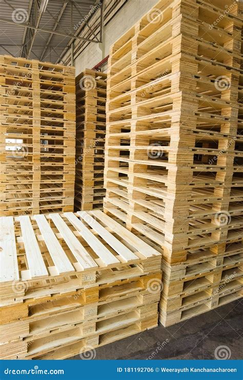
<svg viewBox="0 0 243 380"><path fill-rule="evenodd" d="M64 63L72 43L102 42L106 19L125 2L0 0L0 54Z"/></svg>

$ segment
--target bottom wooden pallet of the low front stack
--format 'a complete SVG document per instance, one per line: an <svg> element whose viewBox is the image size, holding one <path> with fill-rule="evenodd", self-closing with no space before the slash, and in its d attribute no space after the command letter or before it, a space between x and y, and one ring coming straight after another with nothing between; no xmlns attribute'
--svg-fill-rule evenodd
<svg viewBox="0 0 243 380"><path fill-rule="evenodd" d="M144 312L144 313L143 313ZM82 336L82 328L77 326L68 331L25 342L18 339L3 344L3 359L65 359L73 355L92 351L119 339L137 334L157 326L157 304L146 305L141 312L136 310L121 316L100 321L96 332L88 337Z"/></svg>

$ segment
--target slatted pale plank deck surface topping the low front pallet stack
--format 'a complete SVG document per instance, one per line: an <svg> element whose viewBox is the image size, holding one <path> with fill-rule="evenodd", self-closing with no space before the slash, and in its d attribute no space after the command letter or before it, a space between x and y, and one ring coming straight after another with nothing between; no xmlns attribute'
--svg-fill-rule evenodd
<svg viewBox="0 0 243 380"><path fill-rule="evenodd" d="M160 253L102 211L0 217L0 283L119 268Z"/></svg>

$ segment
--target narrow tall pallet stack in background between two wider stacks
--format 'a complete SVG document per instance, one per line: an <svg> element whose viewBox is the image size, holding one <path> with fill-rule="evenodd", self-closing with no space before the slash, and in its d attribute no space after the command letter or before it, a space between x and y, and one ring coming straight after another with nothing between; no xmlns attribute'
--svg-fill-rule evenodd
<svg viewBox="0 0 243 380"><path fill-rule="evenodd" d="M76 77L76 210L103 208L106 78L89 69Z"/></svg>

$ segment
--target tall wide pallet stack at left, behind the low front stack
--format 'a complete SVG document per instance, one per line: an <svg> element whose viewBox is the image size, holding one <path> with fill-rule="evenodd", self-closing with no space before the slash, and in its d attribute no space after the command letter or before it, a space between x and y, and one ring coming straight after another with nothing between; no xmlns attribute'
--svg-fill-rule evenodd
<svg viewBox="0 0 243 380"><path fill-rule="evenodd" d="M73 211L75 71L0 57L0 215Z"/></svg>

